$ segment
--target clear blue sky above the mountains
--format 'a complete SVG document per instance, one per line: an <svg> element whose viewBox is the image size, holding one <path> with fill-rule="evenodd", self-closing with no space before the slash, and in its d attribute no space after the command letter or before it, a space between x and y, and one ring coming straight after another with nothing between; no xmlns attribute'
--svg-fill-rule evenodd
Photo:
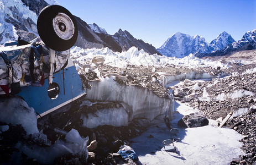
<svg viewBox="0 0 256 165"><path fill-rule="evenodd" d="M56 0L72 14L113 35L127 30L159 48L175 32L211 42L222 31L239 40L256 29L255 0Z"/></svg>

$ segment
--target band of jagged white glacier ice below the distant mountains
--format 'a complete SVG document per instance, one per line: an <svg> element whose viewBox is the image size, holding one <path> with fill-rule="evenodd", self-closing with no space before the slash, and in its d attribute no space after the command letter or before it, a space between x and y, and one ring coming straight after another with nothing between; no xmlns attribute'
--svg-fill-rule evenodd
<svg viewBox="0 0 256 165"><path fill-rule="evenodd" d="M149 55L144 50L138 50L136 47L131 47L125 52L113 52L109 48L92 48L82 49L80 47L74 47L70 51L71 59L74 62L78 62L81 65L85 65L91 62L93 57L103 56L105 64L112 67L126 68L127 65L143 65L160 67L165 64L181 65L188 68L197 67L212 67L212 68L228 68L229 65L224 65L221 62L212 62L209 59L200 59L190 54L184 58L171 58L166 56L158 56L158 54Z"/></svg>

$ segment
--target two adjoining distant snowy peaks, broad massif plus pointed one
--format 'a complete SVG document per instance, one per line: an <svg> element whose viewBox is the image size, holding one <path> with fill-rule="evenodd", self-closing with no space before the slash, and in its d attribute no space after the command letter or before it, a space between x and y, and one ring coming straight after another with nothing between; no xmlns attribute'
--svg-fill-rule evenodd
<svg viewBox="0 0 256 165"><path fill-rule="evenodd" d="M168 57L182 58L188 56L190 53L205 54L216 52L232 42L234 42L234 39L225 31L215 40L212 40L210 44L205 41L205 38L199 35L191 37L190 35L176 32L157 50Z"/></svg>

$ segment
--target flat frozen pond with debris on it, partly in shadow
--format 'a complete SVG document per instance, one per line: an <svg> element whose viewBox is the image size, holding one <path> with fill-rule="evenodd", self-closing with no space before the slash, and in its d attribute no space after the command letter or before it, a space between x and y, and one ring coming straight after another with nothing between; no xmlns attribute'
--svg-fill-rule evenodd
<svg viewBox="0 0 256 165"><path fill-rule="evenodd" d="M176 111L172 124L185 114L196 112L185 103L175 102ZM198 128L180 129L179 142L176 142L178 153L163 151L162 141L170 138L163 117L153 120L149 129L141 136L131 139L131 147L137 153L142 164L229 164L232 158L243 155L240 149L242 135L227 128L211 125ZM151 138L150 138L151 137Z"/></svg>

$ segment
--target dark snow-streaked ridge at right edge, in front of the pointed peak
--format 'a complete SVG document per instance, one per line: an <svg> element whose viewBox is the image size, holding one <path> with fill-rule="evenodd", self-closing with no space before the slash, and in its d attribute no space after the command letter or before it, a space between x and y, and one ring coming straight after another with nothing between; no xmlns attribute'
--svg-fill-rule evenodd
<svg viewBox="0 0 256 165"><path fill-rule="evenodd" d="M230 38L230 37L227 37L227 38ZM232 39L230 41L232 41ZM206 56L224 56L226 54L229 54L237 50L239 51L239 50L254 50L254 49L256 49L256 29L246 32L243 35L241 40L229 43L228 45L224 46L220 50L212 51L210 53L196 53L195 56L200 58L206 57Z"/></svg>

